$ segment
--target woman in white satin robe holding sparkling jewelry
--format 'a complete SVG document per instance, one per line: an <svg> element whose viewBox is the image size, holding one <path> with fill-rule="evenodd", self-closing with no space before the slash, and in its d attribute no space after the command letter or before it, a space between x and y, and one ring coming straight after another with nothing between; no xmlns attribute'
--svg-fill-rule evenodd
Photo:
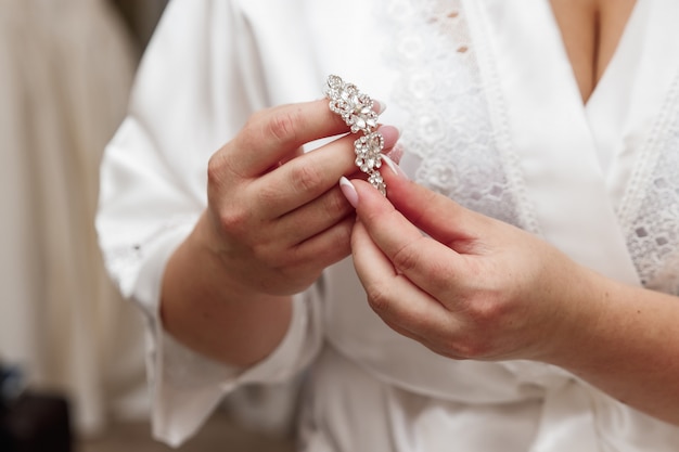
<svg viewBox="0 0 679 452"><path fill-rule="evenodd" d="M302 450L677 450L678 13L170 4L99 217L149 320L156 436L310 365ZM387 198L300 103L333 73L388 105Z"/></svg>

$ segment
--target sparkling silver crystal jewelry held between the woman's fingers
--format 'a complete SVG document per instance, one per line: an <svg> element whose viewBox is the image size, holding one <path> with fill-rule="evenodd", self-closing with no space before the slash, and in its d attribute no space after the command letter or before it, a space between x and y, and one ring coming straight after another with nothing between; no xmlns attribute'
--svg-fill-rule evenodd
<svg viewBox="0 0 679 452"><path fill-rule="evenodd" d="M356 166L368 175L368 182L386 196L386 184L377 169L382 166L384 137L376 131L379 115L372 109L373 101L359 91L354 83L345 82L341 77L328 77L325 98L330 100L330 109L344 119L351 133L363 133L354 142Z"/></svg>

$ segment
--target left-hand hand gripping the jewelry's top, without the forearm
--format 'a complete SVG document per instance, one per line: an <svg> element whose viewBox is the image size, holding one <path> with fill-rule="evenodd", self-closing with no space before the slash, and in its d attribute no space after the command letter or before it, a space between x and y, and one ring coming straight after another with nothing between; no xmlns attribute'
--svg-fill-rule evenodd
<svg viewBox="0 0 679 452"><path fill-rule="evenodd" d="M398 131L380 130L388 150ZM202 236L232 285L294 294L348 256L355 215L337 181L357 171L357 137L302 152L308 142L347 131L325 100L283 105L252 116L212 157Z"/></svg>

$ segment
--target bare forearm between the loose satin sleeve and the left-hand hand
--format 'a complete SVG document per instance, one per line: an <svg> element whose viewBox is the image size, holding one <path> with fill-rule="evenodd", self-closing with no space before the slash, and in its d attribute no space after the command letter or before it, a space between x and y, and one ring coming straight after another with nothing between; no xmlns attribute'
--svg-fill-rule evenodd
<svg viewBox="0 0 679 452"><path fill-rule="evenodd" d="M266 295L239 281L205 235L205 215L170 257L161 320L176 339L239 366L264 359L282 340L292 298Z"/></svg>

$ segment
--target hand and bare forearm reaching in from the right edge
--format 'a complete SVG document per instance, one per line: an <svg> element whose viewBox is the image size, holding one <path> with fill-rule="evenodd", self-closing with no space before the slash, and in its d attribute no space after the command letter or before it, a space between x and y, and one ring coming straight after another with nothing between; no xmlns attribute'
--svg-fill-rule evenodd
<svg viewBox="0 0 679 452"><path fill-rule="evenodd" d="M392 328L453 359L559 365L679 426L676 296L610 280L525 231L382 175L388 199L361 180L343 191L358 212L356 270Z"/></svg>

